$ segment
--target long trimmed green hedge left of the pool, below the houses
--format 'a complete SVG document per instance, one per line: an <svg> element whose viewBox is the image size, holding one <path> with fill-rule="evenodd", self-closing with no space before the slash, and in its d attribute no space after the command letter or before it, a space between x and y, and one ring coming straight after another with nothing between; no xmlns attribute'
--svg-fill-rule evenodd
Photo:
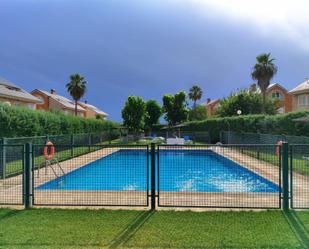
<svg viewBox="0 0 309 249"><path fill-rule="evenodd" d="M115 125L112 121L0 104L0 137L94 133Z"/></svg>

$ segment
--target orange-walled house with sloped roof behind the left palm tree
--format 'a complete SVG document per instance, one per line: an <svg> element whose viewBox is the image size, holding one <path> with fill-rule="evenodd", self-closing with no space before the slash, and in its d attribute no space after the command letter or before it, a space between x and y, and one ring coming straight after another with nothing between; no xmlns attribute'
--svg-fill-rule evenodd
<svg viewBox="0 0 309 249"><path fill-rule="evenodd" d="M40 103L36 106L38 110L54 110L62 111L65 114L75 114L75 103L66 97L57 95L54 89L51 89L50 92L35 89L31 94L40 99ZM86 110L83 107L77 105L78 116L84 117L85 112Z"/></svg>

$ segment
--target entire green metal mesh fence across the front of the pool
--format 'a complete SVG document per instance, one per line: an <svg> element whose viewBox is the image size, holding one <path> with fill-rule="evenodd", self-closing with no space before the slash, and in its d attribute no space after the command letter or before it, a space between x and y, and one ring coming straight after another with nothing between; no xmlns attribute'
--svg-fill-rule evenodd
<svg viewBox="0 0 309 249"><path fill-rule="evenodd" d="M0 145L0 160L7 161L0 204L309 208L309 145L55 144L53 161L44 146ZM3 154L13 148L15 154ZM216 172L208 177L204 169ZM246 179L254 181L246 186ZM250 189L255 184L258 191Z"/></svg>

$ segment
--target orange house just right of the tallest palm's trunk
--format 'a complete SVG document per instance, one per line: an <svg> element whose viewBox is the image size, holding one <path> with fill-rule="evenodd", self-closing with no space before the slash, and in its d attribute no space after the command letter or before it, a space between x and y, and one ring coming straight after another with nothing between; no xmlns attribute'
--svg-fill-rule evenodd
<svg viewBox="0 0 309 249"><path fill-rule="evenodd" d="M276 99L278 101L279 114L291 112L293 110L292 95L280 84L270 84L266 90L266 95L268 98Z"/></svg>

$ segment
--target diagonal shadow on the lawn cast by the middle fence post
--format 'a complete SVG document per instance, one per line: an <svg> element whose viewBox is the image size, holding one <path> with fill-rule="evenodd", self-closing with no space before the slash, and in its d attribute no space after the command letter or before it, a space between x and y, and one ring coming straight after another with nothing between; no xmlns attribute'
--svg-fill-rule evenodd
<svg viewBox="0 0 309 249"><path fill-rule="evenodd" d="M125 244L145 224L154 212L154 210L150 210L138 215L135 220L133 220L120 234L118 234L118 236L109 245L109 248L117 248Z"/></svg>

